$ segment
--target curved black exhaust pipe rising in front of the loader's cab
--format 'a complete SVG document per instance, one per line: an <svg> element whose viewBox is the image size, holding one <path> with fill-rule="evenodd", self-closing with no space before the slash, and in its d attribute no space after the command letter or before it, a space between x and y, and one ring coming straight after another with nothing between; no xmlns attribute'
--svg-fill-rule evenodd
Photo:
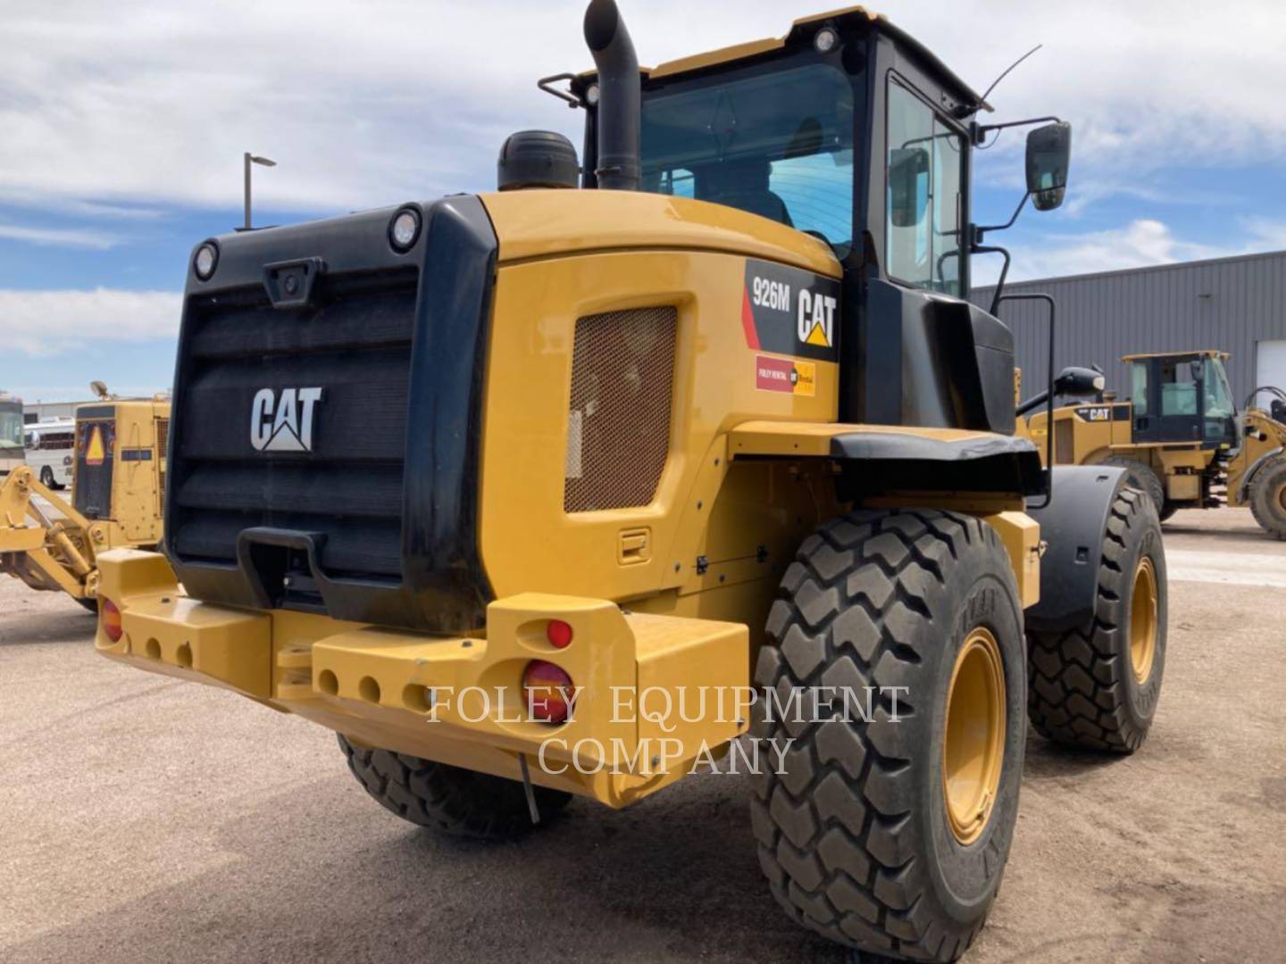
<svg viewBox="0 0 1286 964"><path fill-rule="evenodd" d="M594 176L607 190L639 189L639 114L642 82L634 42L616 0L590 0L585 42L598 68L598 166Z"/></svg>

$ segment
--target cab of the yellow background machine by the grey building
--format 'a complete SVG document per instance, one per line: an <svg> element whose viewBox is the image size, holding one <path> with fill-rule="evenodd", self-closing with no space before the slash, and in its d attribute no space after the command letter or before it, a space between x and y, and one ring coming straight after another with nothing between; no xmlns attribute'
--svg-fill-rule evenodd
<svg viewBox="0 0 1286 964"><path fill-rule="evenodd" d="M1137 442L1237 449L1241 429L1220 351L1127 355Z"/></svg>

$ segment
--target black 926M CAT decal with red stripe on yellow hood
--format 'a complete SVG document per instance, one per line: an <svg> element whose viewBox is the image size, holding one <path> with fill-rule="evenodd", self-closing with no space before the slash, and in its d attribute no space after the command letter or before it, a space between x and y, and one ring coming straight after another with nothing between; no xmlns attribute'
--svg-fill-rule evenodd
<svg viewBox="0 0 1286 964"><path fill-rule="evenodd" d="M755 351L838 361L840 283L797 267L747 258L741 323L746 344ZM760 357L756 364L763 361ZM759 387L764 387L763 377Z"/></svg>

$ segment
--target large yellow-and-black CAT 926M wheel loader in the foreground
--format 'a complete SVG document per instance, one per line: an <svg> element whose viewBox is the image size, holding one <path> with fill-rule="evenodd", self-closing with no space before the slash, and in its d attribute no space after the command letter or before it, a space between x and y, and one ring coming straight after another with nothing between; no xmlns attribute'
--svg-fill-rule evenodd
<svg viewBox="0 0 1286 964"><path fill-rule="evenodd" d="M1015 434L963 297L998 126L919 42L850 9L640 68L615 3L584 30L595 69L541 81L580 162L525 131L495 193L194 249L165 555L102 558L96 647L334 730L448 833L754 770L787 914L954 960L1029 713L1148 731L1156 510ZM1024 203L1069 153L1029 134Z"/></svg>

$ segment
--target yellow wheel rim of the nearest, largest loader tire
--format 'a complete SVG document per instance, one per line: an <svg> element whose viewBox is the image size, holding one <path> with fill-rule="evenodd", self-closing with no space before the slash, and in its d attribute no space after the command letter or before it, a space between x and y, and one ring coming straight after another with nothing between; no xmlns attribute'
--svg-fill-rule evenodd
<svg viewBox="0 0 1286 964"><path fill-rule="evenodd" d="M970 632L946 689L943 794L961 844L983 835L1001 788L1004 762L1004 663L990 630Z"/></svg>

